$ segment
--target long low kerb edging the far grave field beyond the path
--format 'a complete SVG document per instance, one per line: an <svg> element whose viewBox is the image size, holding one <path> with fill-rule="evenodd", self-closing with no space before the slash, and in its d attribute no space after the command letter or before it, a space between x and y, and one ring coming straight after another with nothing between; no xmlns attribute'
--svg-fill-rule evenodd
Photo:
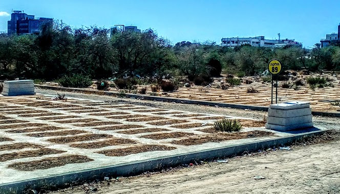
<svg viewBox="0 0 340 194"><path fill-rule="evenodd" d="M40 85L40 84L35 84L35 86L41 89L51 89L51 90L59 90L59 91L81 92L81 93L98 94L98 95L114 95L114 96L119 95L119 92L113 92L113 91L85 90L85 89L80 89L80 88L66 88L66 87L60 87L60 86L47 86L47 85ZM249 110L257 110L257 111L265 111L265 112L268 112L268 109L269 109L269 107L266 107L266 106L252 106L252 105L231 104L231 103L218 103L218 102L210 102L210 101L176 99L176 98L142 95L142 94L125 94L125 96L128 98L144 99L144 100L150 100L150 101L162 101L162 102L170 102L170 103L175 102L175 103L206 105L206 106L219 106L219 107L225 107L225 108L249 109ZM335 112L312 111L312 115L340 117L340 113L335 113Z"/></svg>

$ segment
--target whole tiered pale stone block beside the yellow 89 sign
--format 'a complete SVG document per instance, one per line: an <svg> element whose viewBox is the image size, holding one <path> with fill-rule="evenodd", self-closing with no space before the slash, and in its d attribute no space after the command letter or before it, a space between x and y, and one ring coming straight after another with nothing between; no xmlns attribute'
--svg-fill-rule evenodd
<svg viewBox="0 0 340 194"><path fill-rule="evenodd" d="M312 109L308 102L287 102L270 105L266 129L290 131L313 127Z"/></svg>

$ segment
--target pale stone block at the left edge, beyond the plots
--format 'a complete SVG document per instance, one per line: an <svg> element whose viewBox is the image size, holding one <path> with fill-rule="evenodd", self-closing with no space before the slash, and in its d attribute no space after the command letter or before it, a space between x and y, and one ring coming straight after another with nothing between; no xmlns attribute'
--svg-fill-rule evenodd
<svg viewBox="0 0 340 194"><path fill-rule="evenodd" d="M3 92L1 94L7 96L34 95L35 91L33 80L5 81Z"/></svg>

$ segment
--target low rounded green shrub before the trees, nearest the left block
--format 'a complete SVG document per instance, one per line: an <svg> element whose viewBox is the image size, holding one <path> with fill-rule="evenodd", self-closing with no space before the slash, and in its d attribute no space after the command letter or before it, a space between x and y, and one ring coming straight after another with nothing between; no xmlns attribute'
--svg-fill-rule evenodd
<svg viewBox="0 0 340 194"><path fill-rule="evenodd" d="M93 84L92 80L88 76L81 74L74 74L72 76L63 76L58 80L59 84L63 87L73 88L86 88Z"/></svg>

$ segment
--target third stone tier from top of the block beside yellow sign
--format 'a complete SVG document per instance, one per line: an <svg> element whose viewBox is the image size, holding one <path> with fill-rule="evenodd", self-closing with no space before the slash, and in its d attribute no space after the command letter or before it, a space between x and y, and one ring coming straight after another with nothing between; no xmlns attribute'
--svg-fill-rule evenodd
<svg viewBox="0 0 340 194"><path fill-rule="evenodd" d="M313 118L312 115L296 116L296 117L289 117L289 118L268 116L267 124L282 125L282 126L296 125L296 124L301 124L301 123L312 122L312 118Z"/></svg>

